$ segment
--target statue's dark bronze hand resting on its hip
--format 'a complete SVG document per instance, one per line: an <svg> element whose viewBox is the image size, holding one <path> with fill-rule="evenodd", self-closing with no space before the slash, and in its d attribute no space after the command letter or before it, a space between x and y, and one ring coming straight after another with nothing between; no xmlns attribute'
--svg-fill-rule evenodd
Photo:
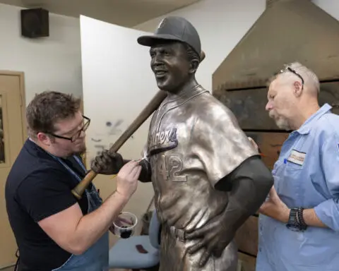
<svg viewBox="0 0 339 271"><path fill-rule="evenodd" d="M199 266L206 265L210 255L220 257L225 248L234 239L235 231L226 227L225 217L223 214L210 219L200 229L186 233L185 239L201 239L196 245L189 248L189 253L193 254L203 249L203 254Z"/></svg>

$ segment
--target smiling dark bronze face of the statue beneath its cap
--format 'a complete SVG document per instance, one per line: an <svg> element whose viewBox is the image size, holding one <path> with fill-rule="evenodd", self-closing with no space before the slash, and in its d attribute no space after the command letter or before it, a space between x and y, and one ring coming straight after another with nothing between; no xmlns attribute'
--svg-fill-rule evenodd
<svg viewBox="0 0 339 271"><path fill-rule="evenodd" d="M190 79L191 64L181 42L156 44L150 48L150 57L150 67L160 90L178 92Z"/></svg>

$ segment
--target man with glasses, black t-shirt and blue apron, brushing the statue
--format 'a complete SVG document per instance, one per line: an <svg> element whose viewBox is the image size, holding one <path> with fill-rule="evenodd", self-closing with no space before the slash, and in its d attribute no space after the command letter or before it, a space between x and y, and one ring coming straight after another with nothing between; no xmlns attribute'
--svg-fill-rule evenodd
<svg viewBox="0 0 339 271"><path fill-rule="evenodd" d="M26 117L30 138L5 191L18 270L108 270L107 231L136 191L141 167L135 161L126 164L117 176L117 191L104 203L93 185L77 200L71 190L86 174L80 154L90 124L80 101L43 92L30 102ZM95 171L105 174L111 162L103 152L95 159Z"/></svg>

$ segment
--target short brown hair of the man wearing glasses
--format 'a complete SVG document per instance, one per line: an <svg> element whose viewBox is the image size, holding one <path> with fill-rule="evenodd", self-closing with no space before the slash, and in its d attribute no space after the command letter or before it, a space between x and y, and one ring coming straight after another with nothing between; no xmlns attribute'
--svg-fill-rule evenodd
<svg viewBox="0 0 339 271"><path fill-rule="evenodd" d="M45 91L35 95L26 109L28 133L54 133L54 124L60 119L75 116L81 108L81 99L55 91Z"/></svg>

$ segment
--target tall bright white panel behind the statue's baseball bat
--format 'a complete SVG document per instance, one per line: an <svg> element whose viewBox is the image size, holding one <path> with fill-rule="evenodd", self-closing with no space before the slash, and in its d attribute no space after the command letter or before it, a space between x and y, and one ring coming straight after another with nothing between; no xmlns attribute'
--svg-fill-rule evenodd
<svg viewBox="0 0 339 271"><path fill-rule="evenodd" d="M83 100L85 114L91 118L86 135L88 162L97 151L108 149L119 138L157 92L153 75L148 72L149 48L136 42L143 34L81 16ZM124 158L141 157L149 120L119 150ZM116 187L108 176L98 175L94 183L104 198ZM152 196L151 183L139 183L138 191L124 210L140 217Z"/></svg>

